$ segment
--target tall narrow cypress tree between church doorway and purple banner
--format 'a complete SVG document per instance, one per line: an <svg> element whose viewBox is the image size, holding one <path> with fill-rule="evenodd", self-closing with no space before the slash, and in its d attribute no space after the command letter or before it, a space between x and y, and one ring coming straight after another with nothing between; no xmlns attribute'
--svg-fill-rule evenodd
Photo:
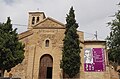
<svg viewBox="0 0 120 79"><path fill-rule="evenodd" d="M66 17L66 22L61 68L69 78L74 78L80 71L81 51L79 46L79 35L77 34L78 24L75 20L73 7L70 8L69 14Z"/></svg>

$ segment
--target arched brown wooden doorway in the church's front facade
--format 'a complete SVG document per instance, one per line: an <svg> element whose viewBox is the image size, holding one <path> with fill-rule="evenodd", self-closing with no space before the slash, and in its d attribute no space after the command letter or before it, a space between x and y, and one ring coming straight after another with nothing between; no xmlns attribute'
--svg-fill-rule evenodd
<svg viewBox="0 0 120 79"><path fill-rule="evenodd" d="M52 79L53 58L45 54L40 58L39 79Z"/></svg>

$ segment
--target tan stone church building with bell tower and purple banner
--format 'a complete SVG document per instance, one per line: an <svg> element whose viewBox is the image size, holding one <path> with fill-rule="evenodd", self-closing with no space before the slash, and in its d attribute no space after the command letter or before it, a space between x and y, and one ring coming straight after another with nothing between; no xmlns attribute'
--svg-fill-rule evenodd
<svg viewBox="0 0 120 79"><path fill-rule="evenodd" d="M19 34L25 44L25 58L5 76L21 79L64 79L60 68L65 24L46 17L44 12L29 12L28 30ZM106 41L84 40L78 31L81 49L80 73L76 79L110 79Z"/></svg>

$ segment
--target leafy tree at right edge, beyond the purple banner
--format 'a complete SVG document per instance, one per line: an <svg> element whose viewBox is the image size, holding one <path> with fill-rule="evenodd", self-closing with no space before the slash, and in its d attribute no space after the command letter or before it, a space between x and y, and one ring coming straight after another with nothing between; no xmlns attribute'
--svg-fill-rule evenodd
<svg viewBox="0 0 120 79"><path fill-rule="evenodd" d="M108 58L116 70L116 67L120 65L120 10L115 13L114 17L114 20L108 22L108 25L111 26L111 32L107 37L107 46L109 47Z"/></svg>

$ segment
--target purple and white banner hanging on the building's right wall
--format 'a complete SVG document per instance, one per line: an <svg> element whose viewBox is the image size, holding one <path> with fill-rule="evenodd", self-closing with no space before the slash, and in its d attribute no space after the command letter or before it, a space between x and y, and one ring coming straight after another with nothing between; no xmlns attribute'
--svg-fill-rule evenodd
<svg viewBox="0 0 120 79"><path fill-rule="evenodd" d="M105 70L105 58L103 48L85 49L84 70L87 72L101 72Z"/></svg>

